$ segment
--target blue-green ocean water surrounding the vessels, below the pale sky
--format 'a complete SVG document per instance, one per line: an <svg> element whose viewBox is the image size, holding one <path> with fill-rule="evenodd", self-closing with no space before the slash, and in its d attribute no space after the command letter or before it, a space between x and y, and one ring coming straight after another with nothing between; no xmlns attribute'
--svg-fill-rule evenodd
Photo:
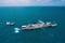
<svg viewBox="0 0 65 43"><path fill-rule="evenodd" d="M14 32L15 27L39 19L57 26ZM15 22L15 26L5 22ZM0 6L0 43L65 43L65 6Z"/></svg>

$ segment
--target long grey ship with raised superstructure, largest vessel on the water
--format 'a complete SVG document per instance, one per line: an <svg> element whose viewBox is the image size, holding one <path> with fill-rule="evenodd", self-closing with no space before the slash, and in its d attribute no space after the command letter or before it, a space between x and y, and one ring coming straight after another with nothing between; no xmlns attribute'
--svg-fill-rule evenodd
<svg viewBox="0 0 65 43"><path fill-rule="evenodd" d="M52 23L43 23L42 20L38 20L37 24L28 24L22 26L22 30L27 30L27 29L38 29L38 28L43 28L43 27L55 27L57 24L52 24Z"/></svg>

